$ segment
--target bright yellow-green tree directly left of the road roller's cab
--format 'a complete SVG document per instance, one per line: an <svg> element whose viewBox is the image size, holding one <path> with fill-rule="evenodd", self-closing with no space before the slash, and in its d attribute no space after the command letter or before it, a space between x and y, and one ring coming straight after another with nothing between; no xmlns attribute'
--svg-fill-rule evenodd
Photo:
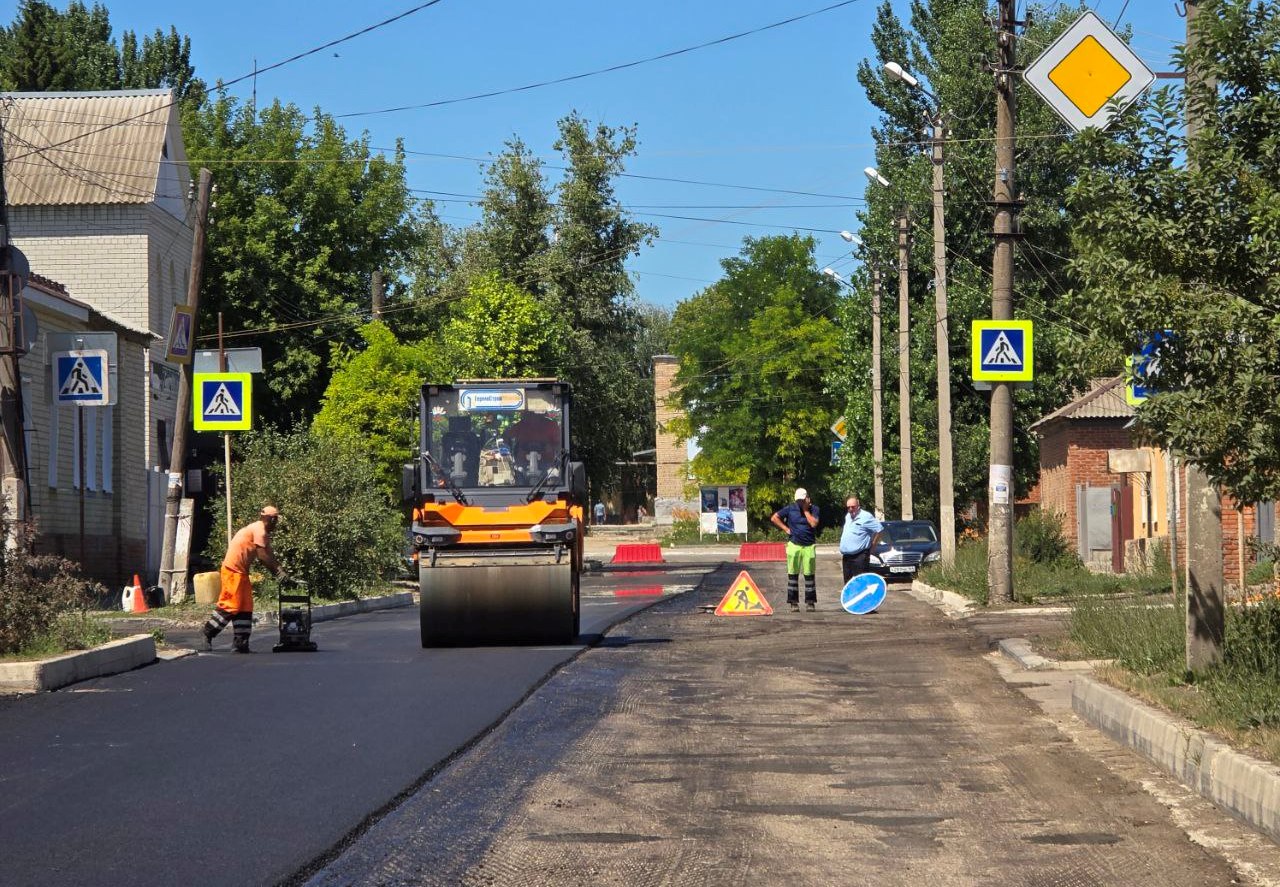
<svg viewBox="0 0 1280 887"><path fill-rule="evenodd" d="M364 448L392 500L399 499L401 466L417 447L419 390L448 375L438 344L401 344L385 324L360 328L364 347L339 346L312 430Z"/></svg>

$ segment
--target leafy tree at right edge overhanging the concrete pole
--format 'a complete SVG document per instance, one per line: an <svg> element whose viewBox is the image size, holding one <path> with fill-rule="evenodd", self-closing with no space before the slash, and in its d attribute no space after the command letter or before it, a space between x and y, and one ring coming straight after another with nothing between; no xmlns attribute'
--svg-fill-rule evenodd
<svg viewBox="0 0 1280 887"><path fill-rule="evenodd" d="M1280 497L1280 4L1207 0L1196 23L1190 93L1079 140L1073 310L1116 367L1172 333L1140 426L1252 502Z"/></svg>

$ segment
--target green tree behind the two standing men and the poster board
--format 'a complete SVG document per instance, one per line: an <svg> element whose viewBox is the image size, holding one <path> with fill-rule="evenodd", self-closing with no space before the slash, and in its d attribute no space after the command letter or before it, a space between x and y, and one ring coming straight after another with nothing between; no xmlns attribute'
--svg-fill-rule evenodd
<svg viewBox="0 0 1280 887"><path fill-rule="evenodd" d="M676 384L696 435L692 471L708 484L751 485L763 518L801 483L827 491L826 388L836 353L837 285L814 266L810 237L746 238L721 262L724 276L681 302L672 320Z"/></svg>

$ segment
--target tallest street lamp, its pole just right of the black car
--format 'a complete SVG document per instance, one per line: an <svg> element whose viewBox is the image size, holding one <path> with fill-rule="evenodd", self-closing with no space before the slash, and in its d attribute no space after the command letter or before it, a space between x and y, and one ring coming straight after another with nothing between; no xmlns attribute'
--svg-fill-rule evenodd
<svg viewBox="0 0 1280 887"><path fill-rule="evenodd" d="M954 457L951 449L951 337L947 319L947 241L942 214L942 102L920 86L920 81L896 61L884 63L884 73L901 81L929 100L929 125L933 129L933 317L934 353L938 365L938 531L942 536L942 562L951 564L956 553L956 507Z"/></svg>

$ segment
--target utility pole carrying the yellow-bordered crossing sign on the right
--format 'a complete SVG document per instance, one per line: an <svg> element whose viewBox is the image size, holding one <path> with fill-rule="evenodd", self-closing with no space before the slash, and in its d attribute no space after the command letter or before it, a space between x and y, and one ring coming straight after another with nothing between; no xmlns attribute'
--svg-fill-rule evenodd
<svg viewBox="0 0 1280 887"><path fill-rule="evenodd" d="M1000 0L996 67L996 187L995 236L991 260L991 319L1014 319L1014 241L1018 212L1014 187L1014 28L1015 0ZM992 383L991 389L991 475L987 502L991 516L987 535L987 602L1014 600L1014 387ZM996 500L997 481L1007 484L1007 494Z"/></svg>

